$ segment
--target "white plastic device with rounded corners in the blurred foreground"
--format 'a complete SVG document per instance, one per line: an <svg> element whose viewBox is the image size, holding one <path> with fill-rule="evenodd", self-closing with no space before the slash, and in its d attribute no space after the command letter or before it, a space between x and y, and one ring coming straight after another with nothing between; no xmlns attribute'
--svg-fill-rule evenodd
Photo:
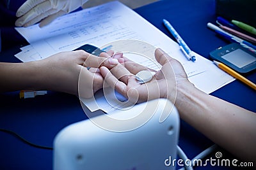
<svg viewBox="0 0 256 170"><path fill-rule="evenodd" d="M156 99L112 114L126 117L146 104L154 107L154 115L132 131L107 131L89 119L65 127L54 139L54 170L175 169L164 164L170 156L176 158L179 139L179 114L170 101ZM172 106L170 114L165 113L168 110L164 108ZM168 117L161 121L163 115Z"/></svg>

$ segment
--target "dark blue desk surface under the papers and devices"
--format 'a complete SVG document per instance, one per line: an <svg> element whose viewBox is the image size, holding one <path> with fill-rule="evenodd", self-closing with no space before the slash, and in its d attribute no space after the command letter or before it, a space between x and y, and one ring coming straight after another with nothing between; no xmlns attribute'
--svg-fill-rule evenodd
<svg viewBox="0 0 256 170"><path fill-rule="evenodd" d="M191 49L209 58L211 50L228 43L207 29L207 22L214 23L216 19L214 5L214 0L166 0L143 6L135 11L171 36L162 24L163 18L169 20ZM17 47L2 52L0 61L19 62L13 56L17 52ZM256 83L256 73L248 74L246 77ZM256 111L256 92L237 80L216 90L212 95ZM17 132L38 145L52 146L54 136L63 127L86 119L79 99L69 94L50 92L34 99L20 100L18 92L10 92L0 94L0 101L0 128ZM192 159L211 146L212 142L182 121L179 145ZM0 132L0 151L0 169L52 169L51 150L33 148L10 134ZM225 150L220 151L223 158L232 158ZM208 166L207 169L235 168Z"/></svg>

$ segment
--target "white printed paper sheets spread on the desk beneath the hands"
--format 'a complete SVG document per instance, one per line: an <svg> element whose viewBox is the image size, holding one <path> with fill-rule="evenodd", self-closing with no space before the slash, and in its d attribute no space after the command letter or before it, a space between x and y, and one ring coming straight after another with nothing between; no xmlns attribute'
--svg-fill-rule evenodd
<svg viewBox="0 0 256 170"><path fill-rule="evenodd" d="M234 80L200 55L196 54L196 62L187 60L177 43L118 1L64 15L43 28L33 25L16 29L42 58L86 43L100 47L118 39L138 39L179 60L189 80L207 94ZM99 102L102 102L100 97ZM90 108L89 101L84 104Z"/></svg>

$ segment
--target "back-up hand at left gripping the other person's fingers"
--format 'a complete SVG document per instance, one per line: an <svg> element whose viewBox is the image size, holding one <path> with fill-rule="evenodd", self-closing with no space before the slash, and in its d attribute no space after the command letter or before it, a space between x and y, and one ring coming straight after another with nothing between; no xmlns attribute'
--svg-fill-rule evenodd
<svg viewBox="0 0 256 170"><path fill-rule="evenodd" d="M32 64L35 68L35 90L54 90L75 95L79 90L79 96L90 98L97 90L102 89L103 78L99 71L90 71L88 67L92 70L100 66L111 69L118 63L117 59L111 57L97 57L77 50L57 53L47 59L27 64Z"/></svg>

